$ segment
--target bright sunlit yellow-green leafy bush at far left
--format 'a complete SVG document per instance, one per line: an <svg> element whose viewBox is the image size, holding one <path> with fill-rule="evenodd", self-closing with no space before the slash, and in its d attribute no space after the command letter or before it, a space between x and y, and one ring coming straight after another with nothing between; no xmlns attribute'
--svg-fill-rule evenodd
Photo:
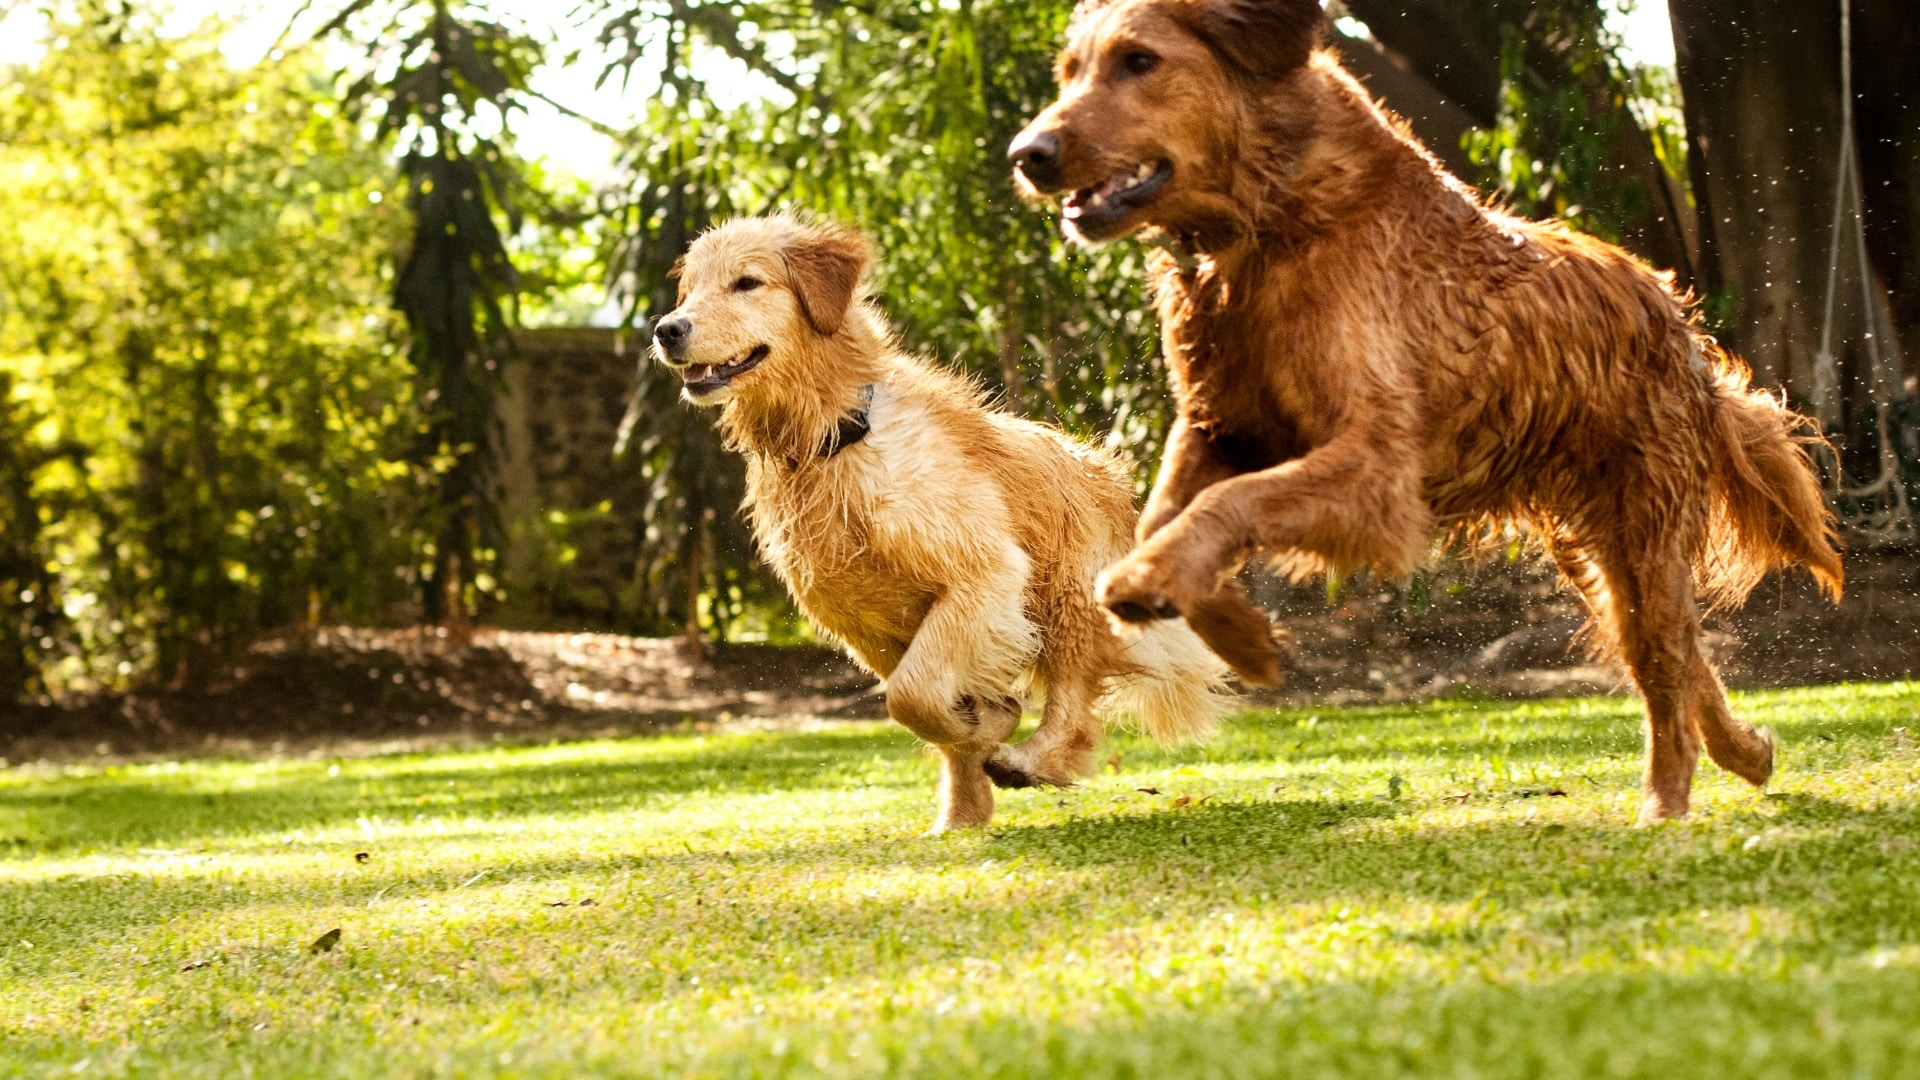
<svg viewBox="0 0 1920 1080"><path fill-rule="evenodd" d="M411 592L390 156L290 54L56 10L0 83L0 694L190 682ZM19 603L19 607L13 607Z"/></svg>

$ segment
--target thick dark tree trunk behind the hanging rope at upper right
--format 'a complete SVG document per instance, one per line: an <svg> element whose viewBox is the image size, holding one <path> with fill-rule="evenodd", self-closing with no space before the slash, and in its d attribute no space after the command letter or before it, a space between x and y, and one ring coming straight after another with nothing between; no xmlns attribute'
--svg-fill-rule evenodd
<svg viewBox="0 0 1920 1080"><path fill-rule="evenodd" d="M1912 15L1889 10L1903 2L1880 4L1884 19L1912 23ZM1670 0L1668 10L1686 98L1690 171L1703 219L1709 306L1755 377L1786 386L1816 409L1845 436L1849 465L1864 465L1862 455L1872 457L1878 442L1870 438L1870 342L1887 350L1897 350L1897 342L1887 332L1885 271L1876 269L1868 275L1872 281L1860 281L1851 221L1841 221L1837 258L1834 254L1841 152L1839 4ZM1884 46L1868 40L1864 29L1855 25L1857 56L1878 56ZM1880 65L1857 63L1862 67ZM1910 54L1905 67L1912 67ZM1855 92L1860 100L1866 86L1857 85ZM1868 119L1884 123L1866 108L1859 119L1862 127ZM1862 131L1857 142L1864 148L1868 133ZM1912 142L1908 136L1893 154L1876 146L1872 156L1862 152L1862 163L1872 160L1880 171L1889 163L1897 169L1905 154L1910 169ZM1868 206L1897 204L1887 190L1874 192ZM1908 186L1908 233L1910 192ZM1880 233L1901 229L1891 213L1874 225ZM1910 250L1901 248L1876 254L1876 267L1920 271ZM1836 267L1828 346L1839 384L1828 392L1816 386L1814 357L1822 346L1828 277Z"/></svg>

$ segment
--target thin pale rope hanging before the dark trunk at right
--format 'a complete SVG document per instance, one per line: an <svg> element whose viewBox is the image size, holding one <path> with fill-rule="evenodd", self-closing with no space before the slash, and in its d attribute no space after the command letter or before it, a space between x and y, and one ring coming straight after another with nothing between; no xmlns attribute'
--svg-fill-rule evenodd
<svg viewBox="0 0 1920 1080"><path fill-rule="evenodd" d="M1834 298L1839 286L1839 238L1845 225L1853 238L1860 277L1860 317L1866 321L1866 356L1874 427L1880 434L1880 477L1862 486L1847 486L1837 457L1830 461L1841 521L1868 546L1914 540L1912 507L1901 482L1901 455L1893 448L1893 398L1899 394L1897 356L1889 327L1882 327L1874 273L1866 261L1866 198L1860 192L1860 158L1853 136L1853 4L1839 0L1839 161L1834 169L1834 236L1826 259L1826 313L1820 319L1820 352L1812 357L1814 411L1820 425L1834 430L1841 423L1839 363L1834 357ZM1851 211L1851 213L1849 213Z"/></svg>

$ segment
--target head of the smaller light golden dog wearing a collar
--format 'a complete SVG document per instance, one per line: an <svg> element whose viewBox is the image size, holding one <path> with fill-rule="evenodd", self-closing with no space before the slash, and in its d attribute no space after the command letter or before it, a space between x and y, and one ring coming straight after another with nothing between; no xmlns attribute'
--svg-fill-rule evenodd
<svg viewBox="0 0 1920 1080"><path fill-rule="evenodd" d="M872 265L852 229L783 213L730 221L680 259L680 302L653 325L653 356L680 373L687 402L718 405L839 334Z"/></svg>

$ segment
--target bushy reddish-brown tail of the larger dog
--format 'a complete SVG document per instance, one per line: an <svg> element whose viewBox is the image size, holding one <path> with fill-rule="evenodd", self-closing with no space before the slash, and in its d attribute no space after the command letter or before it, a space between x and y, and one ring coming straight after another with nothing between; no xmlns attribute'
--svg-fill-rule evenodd
<svg viewBox="0 0 1920 1080"><path fill-rule="evenodd" d="M1793 565L1837 601L1839 534L1807 454L1824 444L1814 421L1749 388L1745 363L1713 340L1695 348L1713 361L1715 505L1699 567L1709 603L1740 603L1768 571Z"/></svg>

